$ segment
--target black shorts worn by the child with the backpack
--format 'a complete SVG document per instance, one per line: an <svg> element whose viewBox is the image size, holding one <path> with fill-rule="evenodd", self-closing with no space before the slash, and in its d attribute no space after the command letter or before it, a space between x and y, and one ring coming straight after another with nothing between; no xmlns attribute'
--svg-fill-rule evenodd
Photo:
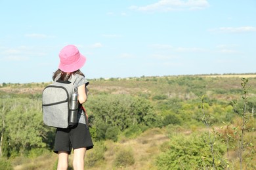
<svg viewBox="0 0 256 170"><path fill-rule="evenodd" d="M93 148L89 127L85 124L77 124L66 129L57 128L55 135L53 152L57 154L58 151L66 151L70 154L72 148L86 148L87 150Z"/></svg>

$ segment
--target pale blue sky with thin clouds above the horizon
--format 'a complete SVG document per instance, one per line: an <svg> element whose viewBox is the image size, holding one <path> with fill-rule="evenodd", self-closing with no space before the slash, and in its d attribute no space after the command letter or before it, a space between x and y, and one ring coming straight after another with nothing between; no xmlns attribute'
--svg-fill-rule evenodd
<svg viewBox="0 0 256 170"><path fill-rule="evenodd" d="M87 78L256 73L255 0L0 0L0 83L50 82L75 44Z"/></svg>

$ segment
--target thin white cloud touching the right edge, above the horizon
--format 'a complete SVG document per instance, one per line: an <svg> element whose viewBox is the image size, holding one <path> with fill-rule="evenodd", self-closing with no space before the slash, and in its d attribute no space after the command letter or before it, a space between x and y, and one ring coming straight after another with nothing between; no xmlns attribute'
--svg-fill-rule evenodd
<svg viewBox="0 0 256 170"><path fill-rule="evenodd" d="M244 27L220 27L217 29L209 29L211 32L215 33L245 33L245 32L254 32L256 27L244 26Z"/></svg>

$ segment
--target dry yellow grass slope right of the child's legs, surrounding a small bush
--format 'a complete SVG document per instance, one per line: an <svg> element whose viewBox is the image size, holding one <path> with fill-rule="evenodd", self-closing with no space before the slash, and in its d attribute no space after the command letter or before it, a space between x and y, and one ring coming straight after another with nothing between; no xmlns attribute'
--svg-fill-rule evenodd
<svg viewBox="0 0 256 170"><path fill-rule="evenodd" d="M164 134L162 129L149 129L137 137L123 141L123 143L114 143L106 141L106 153L104 155L104 163L98 167L91 167L89 169L157 169L154 165L154 159L160 154L160 146L169 138ZM120 148L128 148L133 152L135 163L127 167L114 167L114 160ZM88 151L90 152L90 151ZM85 158L86 159L86 158Z"/></svg>

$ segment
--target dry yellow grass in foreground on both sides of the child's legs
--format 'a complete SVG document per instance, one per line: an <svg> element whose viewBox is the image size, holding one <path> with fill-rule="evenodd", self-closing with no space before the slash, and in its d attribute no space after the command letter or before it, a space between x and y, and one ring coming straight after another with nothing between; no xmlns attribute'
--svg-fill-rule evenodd
<svg viewBox="0 0 256 170"><path fill-rule="evenodd" d="M182 129L182 131L179 130L179 133L184 133L188 135L192 133L192 131L190 129ZM145 131L135 139L122 139L120 142L117 143L114 143L113 141L105 141L104 144L106 146L106 152L104 153L104 161L98 163L98 165L96 165L95 167L88 167L87 165L85 165L85 169L157 169L155 162L156 156L158 156L158 154L160 154L161 152L161 145L169 140L170 139L169 137L167 137L166 129L156 128ZM127 148L133 152L133 156L135 158L135 163L133 165L127 167L114 166L114 160L120 148ZM94 149L87 151L85 160L87 160L92 152L94 152ZM73 156L74 154L72 152L69 160L69 169L72 169ZM37 158L18 157L12 160L12 162L14 162L15 170L48 170L53 169L54 165L56 165L57 160L57 154L54 154L52 152L43 156L39 156Z"/></svg>

